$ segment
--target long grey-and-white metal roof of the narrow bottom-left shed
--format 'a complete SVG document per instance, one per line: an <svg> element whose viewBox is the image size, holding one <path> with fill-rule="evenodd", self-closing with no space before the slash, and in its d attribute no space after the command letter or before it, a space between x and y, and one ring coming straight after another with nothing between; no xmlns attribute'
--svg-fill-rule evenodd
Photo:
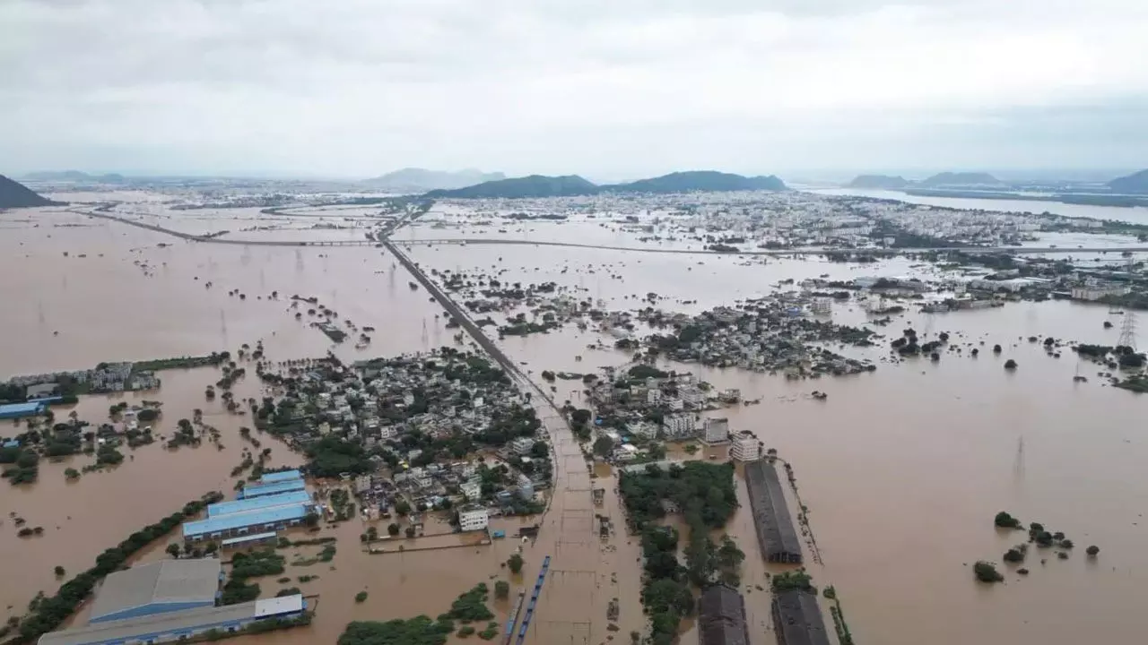
<svg viewBox="0 0 1148 645"><path fill-rule="evenodd" d="M257 614L257 611L259 605L265 604L266 600L255 600L223 607L202 607L183 612L171 612L169 614L153 614L138 619L95 623L77 629L45 634L40 637L38 645L87 645L90 643L126 642L153 634L172 634L255 617L272 617L274 615L289 614L292 611L297 612L304 607L302 596L277 598L277 600L289 599L297 600L292 604L264 605L263 614ZM281 609L278 614L269 612L269 607L296 606L298 607L297 609Z"/></svg>

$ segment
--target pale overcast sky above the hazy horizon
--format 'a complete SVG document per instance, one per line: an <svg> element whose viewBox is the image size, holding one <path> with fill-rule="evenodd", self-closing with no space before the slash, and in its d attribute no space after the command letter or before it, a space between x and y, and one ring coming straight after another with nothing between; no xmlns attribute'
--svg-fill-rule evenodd
<svg viewBox="0 0 1148 645"><path fill-rule="evenodd" d="M0 172L1148 168L1148 0L0 0Z"/></svg>

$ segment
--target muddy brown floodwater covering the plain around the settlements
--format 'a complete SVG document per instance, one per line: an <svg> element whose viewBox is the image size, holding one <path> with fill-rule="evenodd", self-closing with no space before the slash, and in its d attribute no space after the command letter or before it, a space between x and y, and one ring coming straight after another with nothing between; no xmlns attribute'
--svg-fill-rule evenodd
<svg viewBox="0 0 1148 645"><path fill-rule="evenodd" d="M1049 203L1049 210L1054 205ZM230 222L187 226L235 228ZM536 225L535 234L554 231L563 240L575 239L569 235L577 228L546 226ZM453 342L455 331L436 318L441 309L428 302L425 290L411 290L411 278L380 249L201 244L44 210L2 213L0 228L0 265L7 275L18 277L0 287L0 295L17 303L0 310L0 328L8 332L0 337L3 378L85 368L101 360L234 351L259 340L271 360L317 357L328 350L346 359L367 358ZM424 233L429 231L418 234ZM783 279L821 274L831 279L939 275L902 258L867 265L747 262L530 246L418 246L411 255L440 271L505 270L499 277L504 281L552 280L600 298L611 310L647 306L647 294L653 293L659 296L653 306L699 312L763 295ZM209 281L212 286L207 288ZM277 298L270 297L272 292L278 292ZM287 300L293 294L317 296L339 311L340 319L375 326L379 333L367 349L334 345L305 317L294 318ZM835 305L832 316L851 325L866 320L855 305ZM1116 328L1104 329L1106 320L1116 322ZM890 358L887 341L905 327L929 336L947 331L953 335L951 345L971 343L982 349L980 356L971 358L971 347L965 345L960 355L943 352L937 363ZM734 429L755 432L793 465L824 561L812 568L814 582L837 588L858 642L1068 645L1097 636L1137 640L1139 590L1148 582L1143 547L1148 524L1140 526L1148 506L1148 476L1141 467L1148 459L1146 399L1103 386L1096 376L1100 367L1079 363L1066 347L1061 358L1053 358L1040 343L1026 340L1039 335L1115 344L1118 329L1119 318L1110 317L1104 306L1018 302L983 311L894 317L878 328L890 337L869 350L850 350L863 351L878 364L876 372L859 376L786 381L735 368L667 365L719 388L740 388L746 399L761 398L759 405L715 414L728 417ZM588 372L627 360L613 349L588 348L599 341L611 345L613 339L571 326L499 344L535 374ZM1004 348L999 357L986 350L994 343ZM1143 329L1138 343L1148 347ZM1001 364L1007 358L1017 360L1019 368L1006 372ZM228 473L240 460L236 435L245 418L203 401L211 372L163 372L158 393L124 396L164 402L157 432L189 417L192 409L203 409L209 422L220 428L224 450L204 444L168 451L154 444L132 452L133 459L115 469L86 474L73 483L62 474L68 463L45 461L37 483L0 488L6 522L0 527L0 555L20 569L0 581L0 601L13 606L9 615L20 613L36 591L54 591L59 583L53 566L69 573L86 568L96 553L186 500L208 490L230 492ZM1089 381L1075 383L1075 375ZM581 383L556 383L559 404L582 399ZM240 387L253 388L245 396L258 396L254 379ZM828 399L813 399L814 389L827 393ZM77 411L80 418L99 422L115 401L84 397ZM548 419L546 426L556 433L556 495L550 512L534 520L542 521L543 529L533 546L525 546L527 564L520 576L511 578L511 598L533 586L542 558L549 554L551 575L528 642L597 644L608 636L625 642L644 623L637 541L625 535L608 469L591 477L561 423ZM300 459L278 442L264 440L264 445L273 448L276 465ZM607 491L603 507L590 500L594 487ZM743 504L744 495L743 484ZM1006 584L976 583L972 562L1000 562L1010 545L1024 541L1022 534L993 527L993 515L1002 510L1024 522L1064 531L1076 550L1068 560L1050 550L1033 551L1025 565L1032 572L1027 577L1002 566ZM17 538L7 526L9 511L18 511L29 526L42 526L45 534ZM608 543L598 539L596 514L610 516L619 527ZM747 516L747 508L740 508L727 530L746 553L743 592L748 591L753 642L765 644L773 642L767 631L769 595L753 585L768 588L765 574L771 567L760 561ZM496 520L492 527L506 524L507 535L513 535L517 527L510 522ZM288 567L286 575L293 578L318 575L298 584L304 593L319 596L311 628L245 638L333 643L350 620L437 615L474 584L509 576L502 562L519 546L505 539L372 555L362 551L363 530L358 521L325 528L320 535L339 537L334 560ZM1085 557L1088 544L1101 547L1097 559ZM162 546L149 553L145 558L162 557ZM273 580L259 582L264 596L279 589ZM356 604L354 596L363 590L369 598ZM621 600L616 634L607 631L605 620L606 604L614 597ZM509 605L491 601L501 623ZM692 638L687 634L683 642Z"/></svg>

